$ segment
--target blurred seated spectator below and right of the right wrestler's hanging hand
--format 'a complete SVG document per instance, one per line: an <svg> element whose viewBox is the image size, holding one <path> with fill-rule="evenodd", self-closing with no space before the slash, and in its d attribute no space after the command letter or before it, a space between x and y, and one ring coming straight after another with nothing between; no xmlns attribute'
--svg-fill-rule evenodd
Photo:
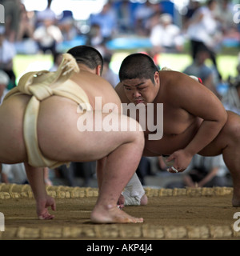
<svg viewBox="0 0 240 256"><path fill-rule="evenodd" d="M215 157L194 155L183 181L189 187L229 186L228 170L222 154Z"/></svg>

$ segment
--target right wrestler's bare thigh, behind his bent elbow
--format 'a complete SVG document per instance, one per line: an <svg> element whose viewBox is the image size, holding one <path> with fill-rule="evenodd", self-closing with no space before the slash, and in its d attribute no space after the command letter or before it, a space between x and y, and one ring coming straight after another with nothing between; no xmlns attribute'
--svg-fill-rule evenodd
<svg viewBox="0 0 240 256"><path fill-rule="evenodd" d="M210 142L210 144L201 150L199 154L205 156L222 154L222 150L224 150L226 146L234 145L239 139L240 116L231 111L227 111L227 114L228 118L225 126L223 126L217 137L214 138L213 142Z"/></svg>

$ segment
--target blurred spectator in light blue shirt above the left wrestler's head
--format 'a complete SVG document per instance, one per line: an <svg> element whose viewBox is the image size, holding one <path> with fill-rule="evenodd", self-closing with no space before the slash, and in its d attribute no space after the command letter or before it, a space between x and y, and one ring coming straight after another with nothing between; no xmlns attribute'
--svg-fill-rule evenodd
<svg viewBox="0 0 240 256"><path fill-rule="evenodd" d="M90 15L90 26L98 24L104 41L110 40L117 30L117 15L115 14L112 4L106 3L102 7L102 11L98 14Z"/></svg>

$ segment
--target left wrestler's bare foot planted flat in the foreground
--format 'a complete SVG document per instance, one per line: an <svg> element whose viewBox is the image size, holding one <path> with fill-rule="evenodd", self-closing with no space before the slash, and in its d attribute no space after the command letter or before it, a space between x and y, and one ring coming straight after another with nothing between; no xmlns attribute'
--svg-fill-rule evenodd
<svg viewBox="0 0 240 256"><path fill-rule="evenodd" d="M120 210L118 206L95 206L91 214L94 223L142 223L143 218L135 218Z"/></svg>

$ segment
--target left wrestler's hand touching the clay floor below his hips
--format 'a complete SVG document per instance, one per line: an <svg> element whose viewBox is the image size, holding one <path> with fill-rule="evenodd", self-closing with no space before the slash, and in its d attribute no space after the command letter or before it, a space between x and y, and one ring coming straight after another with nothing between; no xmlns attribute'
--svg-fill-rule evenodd
<svg viewBox="0 0 240 256"><path fill-rule="evenodd" d="M45 199L39 199L37 201L37 214L39 219L54 218L54 215L48 212L48 207L51 207L52 210L56 210L56 203L54 198L47 195Z"/></svg>

